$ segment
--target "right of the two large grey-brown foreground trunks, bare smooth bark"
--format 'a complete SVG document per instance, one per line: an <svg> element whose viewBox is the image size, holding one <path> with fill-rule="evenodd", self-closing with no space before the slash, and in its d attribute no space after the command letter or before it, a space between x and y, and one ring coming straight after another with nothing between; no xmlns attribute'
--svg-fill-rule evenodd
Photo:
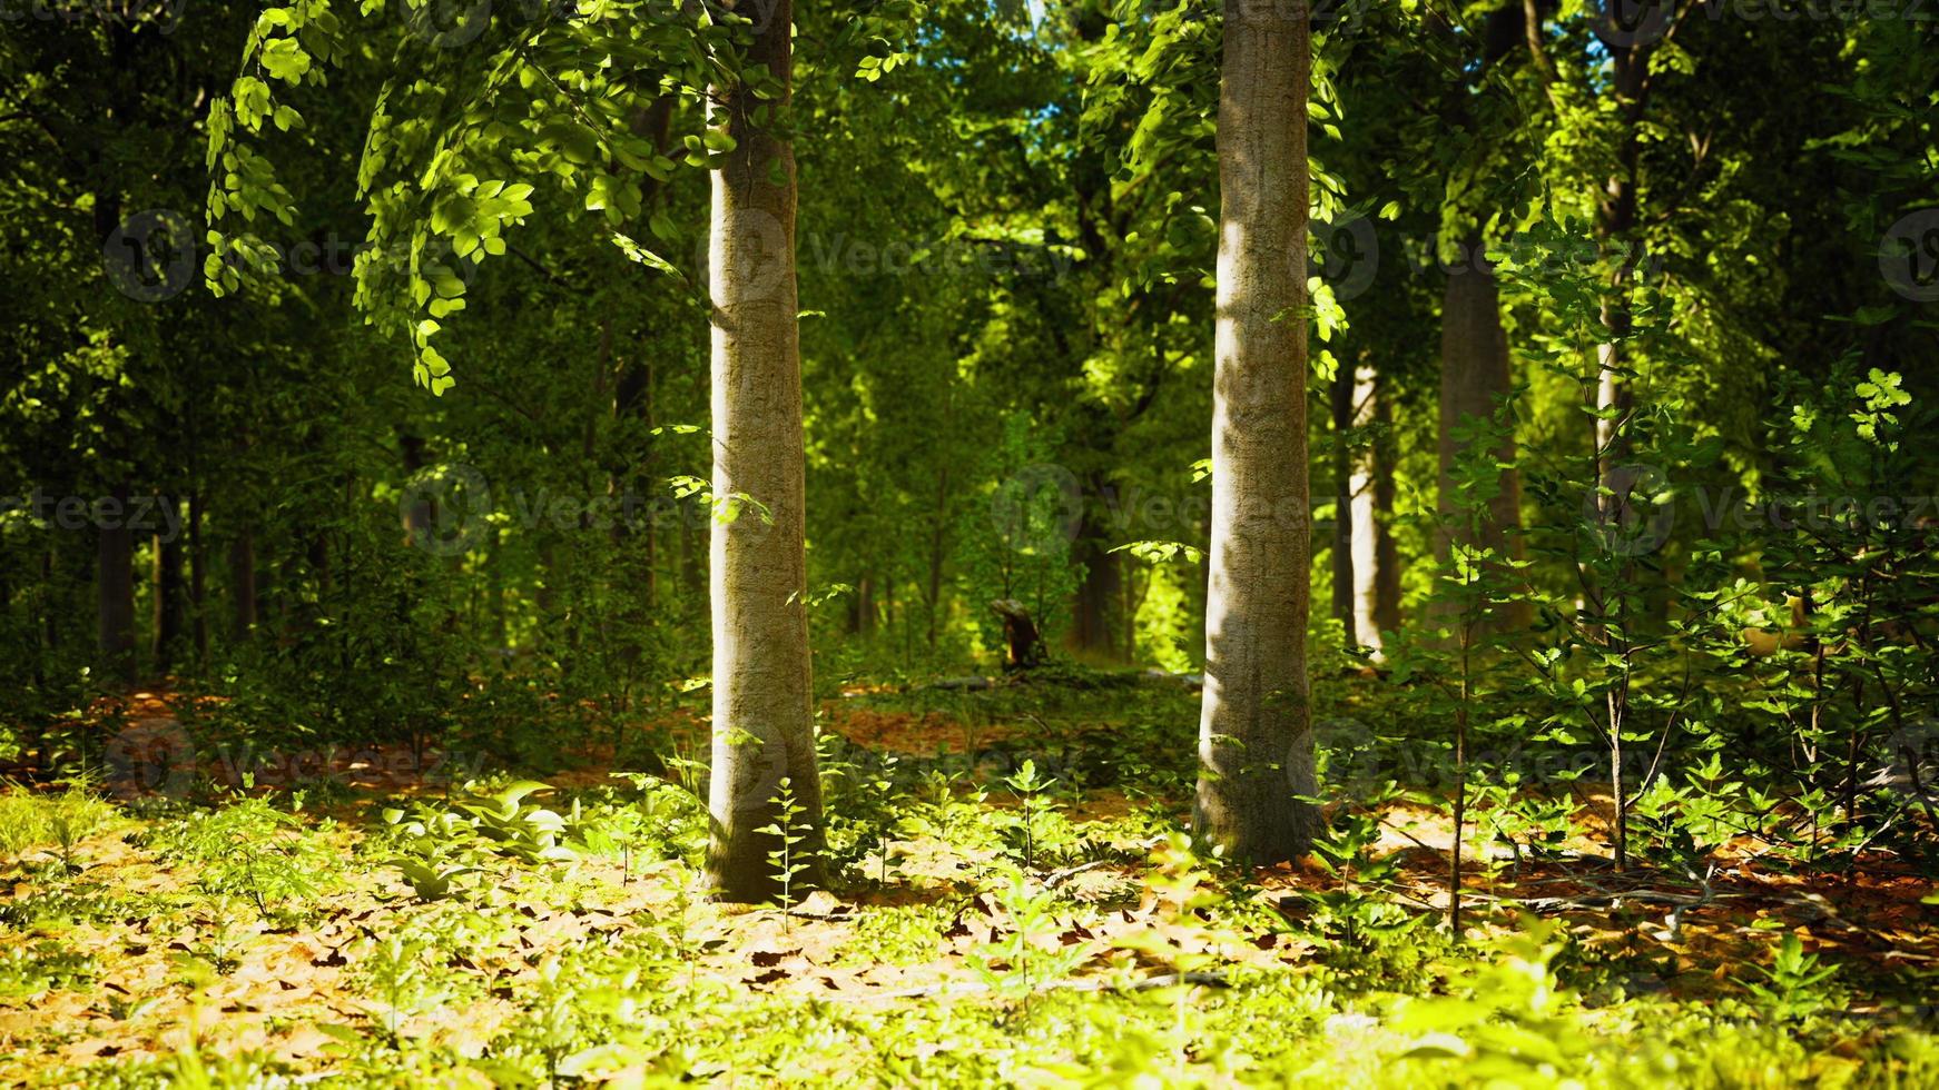
<svg viewBox="0 0 1939 1090"><path fill-rule="evenodd" d="M1303 856L1307 705L1305 4L1231 4L1220 77L1212 550L1194 825L1231 856ZM1282 319L1293 316L1291 319Z"/></svg>

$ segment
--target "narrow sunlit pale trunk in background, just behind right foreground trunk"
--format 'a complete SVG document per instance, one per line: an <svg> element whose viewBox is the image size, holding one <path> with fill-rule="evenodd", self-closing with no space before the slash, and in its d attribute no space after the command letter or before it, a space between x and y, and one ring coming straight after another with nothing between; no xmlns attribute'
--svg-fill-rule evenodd
<svg viewBox="0 0 1939 1090"><path fill-rule="evenodd" d="M1400 627L1400 550L1394 544L1394 412L1371 364L1353 372L1353 428L1371 438L1353 445L1348 507L1353 527L1353 608L1350 633L1381 651L1381 633Z"/></svg>

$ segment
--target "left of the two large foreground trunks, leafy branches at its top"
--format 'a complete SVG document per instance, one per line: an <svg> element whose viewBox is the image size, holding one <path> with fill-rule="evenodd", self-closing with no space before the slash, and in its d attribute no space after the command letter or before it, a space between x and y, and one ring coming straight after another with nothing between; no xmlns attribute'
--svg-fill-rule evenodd
<svg viewBox="0 0 1939 1090"><path fill-rule="evenodd" d="M791 79L791 0L776 0L754 33L747 64L778 81L758 99L739 79L717 85L710 124L735 149L714 170L708 244L714 302L714 496L747 496L758 509L715 519L714 598L714 765L708 786L712 842L708 879L725 900L752 902L778 893L770 852L783 838L770 823L799 823L807 838L795 862L818 881L822 784L814 765L814 709L809 687L805 472L801 438L801 352L795 302L795 155L756 110L787 110ZM748 505L752 507L752 505ZM781 817L781 780L799 815ZM789 831L793 836L793 831Z"/></svg>

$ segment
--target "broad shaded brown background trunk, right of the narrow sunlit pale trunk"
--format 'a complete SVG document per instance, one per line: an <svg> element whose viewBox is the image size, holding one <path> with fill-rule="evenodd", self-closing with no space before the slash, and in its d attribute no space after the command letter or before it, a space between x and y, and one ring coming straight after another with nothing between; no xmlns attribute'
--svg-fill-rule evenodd
<svg viewBox="0 0 1939 1090"><path fill-rule="evenodd" d="M1501 290L1495 287L1495 271L1487 263L1485 244L1479 236L1468 238L1462 246L1466 261L1448 271L1446 294L1441 304L1441 511L1454 511L1454 463L1462 453L1454 438L1462 420L1495 412L1495 401L1509 393L1514 378L1509 366L1509 337L1501 329ZM1509 465L1514 461L1514 439L1505 439L1495 457ZM1522 476L1501 470L1501 490L1487 505L1479 532L1474 532L1466 519L1454 527L1454 536L1464 544L1491 548L1497 556L1520 560L1522 542ZM1443 536L1437 552L1445 558L1450 540ZM1528 623L1526 604L1512 606L1501 623L1522 627Z"/></svg>

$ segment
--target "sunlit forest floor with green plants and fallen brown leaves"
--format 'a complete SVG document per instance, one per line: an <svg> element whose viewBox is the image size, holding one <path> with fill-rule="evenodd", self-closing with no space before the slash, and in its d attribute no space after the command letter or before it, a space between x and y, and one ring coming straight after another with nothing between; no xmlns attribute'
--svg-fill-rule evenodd
<svg viewBox="0 0 1939 1090"><path fill-rule="evenodd" d="M692 796L595 759L10 788L0 1084L1939 1084L1939 908L1904 860L1743 836L1615 873L1588 819L1478 850L1456 943L1437 805L1237 873L1183 852L1175 778L1082 786L1123 722L952 701L828 705L840 877L787 910L708 902ZM124 755L184 745L159 695L124 724Z"/></svg>

